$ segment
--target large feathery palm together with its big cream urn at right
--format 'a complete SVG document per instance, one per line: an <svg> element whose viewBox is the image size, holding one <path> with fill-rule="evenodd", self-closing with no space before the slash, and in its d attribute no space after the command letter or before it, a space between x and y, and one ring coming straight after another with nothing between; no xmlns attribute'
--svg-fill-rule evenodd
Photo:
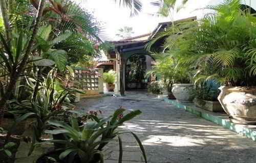
<svg viewBox="0 0 256 163"><path fill-rule="evenodd" d="M196 69L196 82L221 83L218 100L231 122L256 124L255 17L236 0L208 9L215 11L190 26L186 23L181 35L169 37L166 44Z"/></svg>

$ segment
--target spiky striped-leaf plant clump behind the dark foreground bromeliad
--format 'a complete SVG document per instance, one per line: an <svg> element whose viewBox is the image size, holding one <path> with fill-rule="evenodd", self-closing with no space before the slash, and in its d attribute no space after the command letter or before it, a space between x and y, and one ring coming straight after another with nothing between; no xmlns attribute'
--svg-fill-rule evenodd
<svg viewBox="0 0 256 163"><path fill-rule="evenodd" d="M23 108L23 113L30 113L35 118L31 126L33 129L33 139L29 155L34 149L34 144L41 142L41 136L45 130L50 128L49 120L55 119L59 115L74 107L70 98L73 92L83 93L75 88L66 87L65 83L58 77L57 69L52 69L47 77L29 78L27 85L24 86L30 90L30 98L18 104Z"/></svg>

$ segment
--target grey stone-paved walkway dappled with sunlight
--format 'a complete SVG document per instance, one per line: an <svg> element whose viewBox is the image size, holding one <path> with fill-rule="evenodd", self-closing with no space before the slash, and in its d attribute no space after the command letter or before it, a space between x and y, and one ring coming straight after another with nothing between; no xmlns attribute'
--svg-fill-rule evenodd
<svg viewBox="0 0 256 163"><path fill-rule="evenodd" d="M140 116L125 123L124 128L139 136L148 162L254 163L256 160L256 142L153 95L84 99L77 106L87 111L101 110L103 116L113 114L119 106L142 111ZM122 140L123 163L141 163L142 156L135 139L125 134ZM118 142L109 144L105 155L106 163L118 162Z"/></svg>

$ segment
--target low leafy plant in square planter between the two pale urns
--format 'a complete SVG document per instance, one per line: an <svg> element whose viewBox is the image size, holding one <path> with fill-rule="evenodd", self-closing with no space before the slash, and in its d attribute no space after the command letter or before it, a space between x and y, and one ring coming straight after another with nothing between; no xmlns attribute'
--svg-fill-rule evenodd
<svg viewBox="0 0 256 163"><path fill-rule="evenodd" d="M195 96L194 103L197 107L210 112L224 112L218 101L220 91L213 87L212 82L196 85L196 88L192 90L192 94Z"/></svg>

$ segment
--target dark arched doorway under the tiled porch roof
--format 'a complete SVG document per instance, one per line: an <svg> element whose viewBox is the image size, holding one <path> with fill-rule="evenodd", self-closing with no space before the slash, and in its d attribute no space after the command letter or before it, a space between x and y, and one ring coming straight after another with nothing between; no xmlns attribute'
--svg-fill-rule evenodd
<svg viewBox="0 0 256 163"><path fill-rule="evenodd" d="M147 53L136 53L125 62L125 90L146 90L147 83L151 82L151 77L145 77L147 70L151 70L152 58Z"/></svg>

